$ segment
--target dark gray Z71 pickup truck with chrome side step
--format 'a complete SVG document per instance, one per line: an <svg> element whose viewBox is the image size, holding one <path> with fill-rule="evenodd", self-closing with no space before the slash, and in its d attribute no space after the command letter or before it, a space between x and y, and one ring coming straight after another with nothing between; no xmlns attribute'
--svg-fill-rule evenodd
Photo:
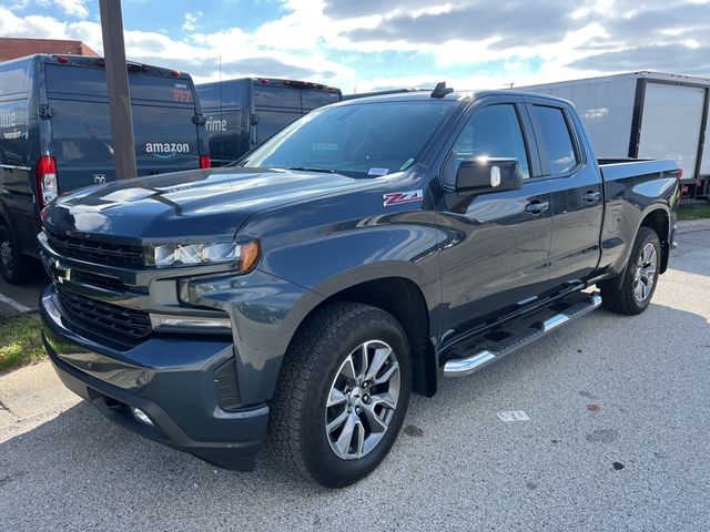
<svg viewBox="0 0 710 532"><path fill-rule="evenodd" d="M70 389L148 438L242 470L268 439L347 485L389 452L412 392L599 305L648 307L678 167L601 163L554 98L439 85L329 105L235 165L49 205L45 346Z"/></svg>

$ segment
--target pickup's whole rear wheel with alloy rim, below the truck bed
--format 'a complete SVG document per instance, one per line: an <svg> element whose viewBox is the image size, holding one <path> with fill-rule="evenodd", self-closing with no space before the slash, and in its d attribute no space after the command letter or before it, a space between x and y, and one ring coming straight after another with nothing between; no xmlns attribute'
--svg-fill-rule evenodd
<svg viewBox="0 0 710 532"><path fill-rule="evenodd" d="M611 311L641 314L651 304L658 284L661 244L656 232L641 227L626 266L623 282L617 289L601 286L601 300Z"/></svg>

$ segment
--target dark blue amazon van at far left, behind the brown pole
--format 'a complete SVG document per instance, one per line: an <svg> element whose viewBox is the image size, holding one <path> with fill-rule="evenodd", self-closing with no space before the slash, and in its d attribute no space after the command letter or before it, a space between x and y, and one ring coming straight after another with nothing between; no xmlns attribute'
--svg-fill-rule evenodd
<svg viewBox="0 0 710 532"><path fill-rule="evenodd" d="M205 120L190 75L126 68L138 175L209 167ZM44 205L115 178L103 59L37 54L0 63L2 277L31 277Z"/></svg>

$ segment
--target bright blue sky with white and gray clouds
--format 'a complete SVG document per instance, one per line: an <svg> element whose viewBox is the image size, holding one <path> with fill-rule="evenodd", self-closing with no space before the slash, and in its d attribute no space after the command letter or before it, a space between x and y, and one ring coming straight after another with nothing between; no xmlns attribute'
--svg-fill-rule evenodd
<svg viewBox="0 0 710 532"><path fill-rule="evenodd" d="M101 52L98 1L0 0L0 35ZM710 76L710 0L123 0L126 53L196 81L268 75L359 92L500 88L630 70Z"/></svg>

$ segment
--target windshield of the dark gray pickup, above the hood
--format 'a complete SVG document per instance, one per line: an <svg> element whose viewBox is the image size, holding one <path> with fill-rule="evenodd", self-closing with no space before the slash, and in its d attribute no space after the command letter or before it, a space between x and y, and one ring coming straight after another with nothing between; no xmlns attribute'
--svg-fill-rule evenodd
<svg viewBox="0 0 710 532"><path fill-rule="evenodd" d="M271 137L241 164L387 175L417 161L453 103L426 100L324 108Z"/></svg>

